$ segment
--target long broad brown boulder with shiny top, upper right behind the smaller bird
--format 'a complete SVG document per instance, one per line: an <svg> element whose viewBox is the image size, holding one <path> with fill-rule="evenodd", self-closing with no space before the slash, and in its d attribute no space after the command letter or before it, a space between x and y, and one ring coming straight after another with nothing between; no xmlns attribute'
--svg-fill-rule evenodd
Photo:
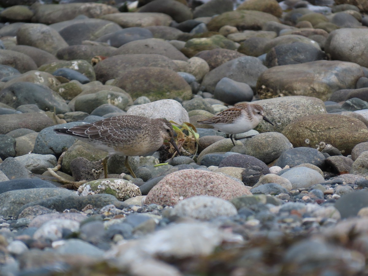
<svg viewBox="0 0 368 276"><path fill-rule="evenodd" d="M264 71L258 78L256 90L261 99L303 95L327 100L337 90L355 88L363 75L358 64L345 61L289 64Z"/></svg>

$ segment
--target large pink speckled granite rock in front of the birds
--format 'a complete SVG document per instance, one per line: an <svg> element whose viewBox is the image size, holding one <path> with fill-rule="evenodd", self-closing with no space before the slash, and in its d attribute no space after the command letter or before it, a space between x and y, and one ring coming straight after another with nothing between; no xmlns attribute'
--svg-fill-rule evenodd
<svg viewBox="0 0 368 276"><path fill-rule="evenodd" d="M181 199L210 195L226 200L251 195L244 184L223 174L205 170L180 170L170 173L149 191L145 204L175 205Z"/></svg>

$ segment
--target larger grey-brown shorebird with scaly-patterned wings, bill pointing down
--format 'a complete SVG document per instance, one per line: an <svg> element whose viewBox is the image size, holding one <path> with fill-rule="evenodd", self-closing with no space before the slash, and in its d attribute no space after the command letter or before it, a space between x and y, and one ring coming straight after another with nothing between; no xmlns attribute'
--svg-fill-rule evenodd
<svg viewBox="0 0 368 276"><path fill-rule="evenodd" d="M174 142L174 130L166 119L151 119L142 116L122 115L105 118L93 124L72 128L55 128L56 134L71 135L79 140L106 151L103 169L107 178L107 159L112 154L125 156L124 165L135 178L128 156L147 156L157 151L164 140L168 140L180 154Z"/></svg>

